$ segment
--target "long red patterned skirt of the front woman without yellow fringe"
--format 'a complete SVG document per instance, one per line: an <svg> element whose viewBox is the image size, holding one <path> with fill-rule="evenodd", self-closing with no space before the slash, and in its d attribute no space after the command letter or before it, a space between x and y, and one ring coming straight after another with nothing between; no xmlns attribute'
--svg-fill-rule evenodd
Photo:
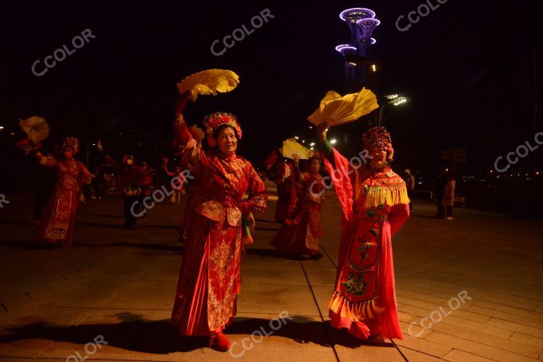
<svg viewBox="0 0 543 362"><path fill-rule="evenodd" d="M221 331L236 314L240 293L241 227L190 210L171 323L180 334Z"/></svg>

